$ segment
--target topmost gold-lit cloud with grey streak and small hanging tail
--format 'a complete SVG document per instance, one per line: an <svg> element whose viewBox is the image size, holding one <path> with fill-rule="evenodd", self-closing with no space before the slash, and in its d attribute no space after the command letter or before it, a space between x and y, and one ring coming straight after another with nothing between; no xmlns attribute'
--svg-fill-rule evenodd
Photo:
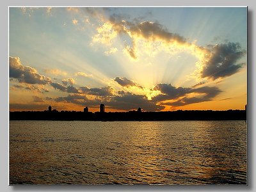
<svg viewBox="0 0 256 192"><path fill-rule="evenodd" d="M93 42L111 45L117 35L126 35L131 38L132 46L125 45L125 51L136 59L136 45L134 44L138 38L150 41L160 41L166 44L180 44L184 46L191 45L186 42L185 38L176 34L170 33L164 26L158 22L143 21L134 19L132 22L124 20L123 15L111 15L109 20L106 20L102 26L97 28L97 35L93 36Z"/></svg>

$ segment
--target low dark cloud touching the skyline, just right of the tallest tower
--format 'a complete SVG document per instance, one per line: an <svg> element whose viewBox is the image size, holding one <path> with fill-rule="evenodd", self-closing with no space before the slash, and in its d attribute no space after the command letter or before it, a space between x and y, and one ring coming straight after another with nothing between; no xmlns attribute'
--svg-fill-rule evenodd
<svg viewBox="0 0 256 192"><path fill-rule="evenodd" d="M160 111L164 109L164 106L157 106L156 103L148 100L145 95L135 95L129 92L111 97L111 101L106 102L106 105L113 109L124 110L142 108L145 111Z"/></svg>

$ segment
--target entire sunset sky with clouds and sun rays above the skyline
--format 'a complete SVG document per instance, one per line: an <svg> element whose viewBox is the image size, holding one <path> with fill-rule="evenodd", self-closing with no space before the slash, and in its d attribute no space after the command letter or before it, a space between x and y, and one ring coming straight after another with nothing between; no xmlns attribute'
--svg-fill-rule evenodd
<svg viewBox="0 0 256 192"><path fill-rule="evenodd" d="M244 109L246 7L10 7L10 111Z"/></svg>

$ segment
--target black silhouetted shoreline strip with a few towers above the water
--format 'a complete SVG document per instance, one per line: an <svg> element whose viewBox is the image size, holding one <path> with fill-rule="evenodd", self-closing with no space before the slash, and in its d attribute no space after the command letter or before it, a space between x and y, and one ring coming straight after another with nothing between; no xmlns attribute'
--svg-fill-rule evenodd
<svg viewBox="0 0 256 192"><path fill-rule="evenodd" d="M10 112L10 120L101 120L101 121L150 121L150 120L247 120L246 106L244 110L212 111L212 110L178 110L178 111L141 111L105 112L104 104L99 111L92 113L86 106L82 111L57 111L49 106L45 111Z"/></svg>

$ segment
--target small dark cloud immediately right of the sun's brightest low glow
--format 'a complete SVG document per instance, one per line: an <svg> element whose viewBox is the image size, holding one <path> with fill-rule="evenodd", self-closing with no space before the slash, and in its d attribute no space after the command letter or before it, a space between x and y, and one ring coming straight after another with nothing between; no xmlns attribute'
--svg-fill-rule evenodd
<svg viewBox="0 0 256 192"><path fill-rule="evenodd" d="M191 92L191 88L182 88L178 87L175 88L175 86L172 86L172 84L163 84L159 83L154 87L154 90L158 90L163 94L157 95L156 97L152 97L152 100L155 102L157 101L163 101L168 99L175 99L177 97L186 95L186 93Z"/></svg>

